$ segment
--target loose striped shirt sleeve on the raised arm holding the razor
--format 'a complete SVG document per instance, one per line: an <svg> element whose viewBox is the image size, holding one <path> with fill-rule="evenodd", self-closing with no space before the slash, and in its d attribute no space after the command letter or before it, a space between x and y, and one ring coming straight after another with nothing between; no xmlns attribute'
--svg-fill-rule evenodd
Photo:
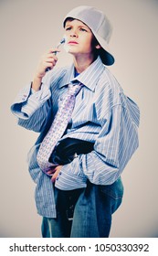
<svg viewBox="0 0 158 256"><path fill-rule="evenodd" d="M51 92L45 83L39 91L31 90L31 82L19 91L11 105L11 112L16 115L18 124L28 130L41 132L51 111L50 96Z"/></svg>

